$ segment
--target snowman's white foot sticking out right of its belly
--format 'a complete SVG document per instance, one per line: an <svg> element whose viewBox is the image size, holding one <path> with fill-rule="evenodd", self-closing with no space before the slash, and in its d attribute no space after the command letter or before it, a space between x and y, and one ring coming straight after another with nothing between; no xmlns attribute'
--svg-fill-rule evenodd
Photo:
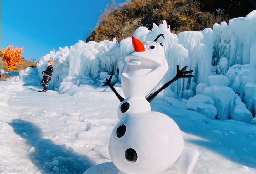
<svg viewBox="0 0 256 174"><path fill-rule="evenodd" d="M175 166L180 174L190 174L198 157L198 150L183 146L181 156L171 166Z"/></svg>

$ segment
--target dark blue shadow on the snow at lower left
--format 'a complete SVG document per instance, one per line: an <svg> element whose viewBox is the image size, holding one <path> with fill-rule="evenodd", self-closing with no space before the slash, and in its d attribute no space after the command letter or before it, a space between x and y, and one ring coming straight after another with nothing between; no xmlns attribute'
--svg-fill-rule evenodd
<svg viewBox="0 0 256 174"><path fill-rule="evenodd" d="M30 157L43 174L81 174L96 165L87 156L66 150L65 145L56 145L50 139L42 139L42 131L31 122L15 119L8 124L13 127L16 134L26 139L27 145L35 147L35 152L30 153ZM59 169L54 168L54 164L58 164L56 167Z"/></svg>

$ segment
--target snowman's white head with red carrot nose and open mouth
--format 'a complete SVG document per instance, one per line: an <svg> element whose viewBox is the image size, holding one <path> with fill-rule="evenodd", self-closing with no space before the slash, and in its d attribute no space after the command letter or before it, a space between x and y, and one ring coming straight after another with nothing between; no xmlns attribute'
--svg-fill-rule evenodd
<svg viewBox="0 0 256 174"><path fill-rule="evenodd" d="M161 34L163 35L163 34ZM134 52L125 56L121 84L126 98L146 97L168 71L162 44L156 40L141 43L132 37Z"/></svg>

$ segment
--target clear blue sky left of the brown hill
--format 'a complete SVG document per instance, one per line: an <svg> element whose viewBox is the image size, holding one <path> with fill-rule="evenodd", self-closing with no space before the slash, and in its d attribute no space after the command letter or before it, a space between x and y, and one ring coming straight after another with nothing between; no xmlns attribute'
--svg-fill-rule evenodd
<svg viewBox="0 0 256 174"><path fill-rule="evenodd" d="M123 2L117 0L117 3ZM1 49L24 46L22 56L39 60L84 39L109 0L25 0L1 2Z"/></svg>

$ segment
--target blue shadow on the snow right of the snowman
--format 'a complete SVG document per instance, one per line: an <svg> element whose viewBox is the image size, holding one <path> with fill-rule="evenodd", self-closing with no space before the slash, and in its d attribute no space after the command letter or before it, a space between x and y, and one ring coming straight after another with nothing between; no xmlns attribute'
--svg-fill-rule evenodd
<svg viewBox="0 0 256 174"><path fill-rule="evenodd" d="M152 111L161 112L172 118L181 131L204 139L188 140L189 142L206 147L243 166L255 168L255 126L250 127L249 123L236 122L235 120L211 120L201 114L205 120L208 120L205 123L199 113L182 108L174 108L166 101L159 99L153 100L150 105ZM248 133L248 130L244 130L244 132L238 131L236 126L240 125L250 130L254 128L254 132L249 131L250 133ZM226 135L212 133L212 130L221 130ZM230 133L230 131L235 131L235 134ZM200 149L198 150L200 151Z"/></svg>

